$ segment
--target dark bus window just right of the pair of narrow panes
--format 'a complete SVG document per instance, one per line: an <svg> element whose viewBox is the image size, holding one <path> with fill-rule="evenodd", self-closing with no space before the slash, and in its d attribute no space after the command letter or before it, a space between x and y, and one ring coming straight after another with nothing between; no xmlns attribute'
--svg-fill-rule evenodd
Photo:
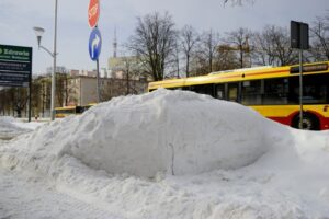
<svg viewBox="0 0 329 219"><path fill-rule="evenodd" d="M241 103L245 105L262 104L261 81L243 81L241 91Z"/></svg>

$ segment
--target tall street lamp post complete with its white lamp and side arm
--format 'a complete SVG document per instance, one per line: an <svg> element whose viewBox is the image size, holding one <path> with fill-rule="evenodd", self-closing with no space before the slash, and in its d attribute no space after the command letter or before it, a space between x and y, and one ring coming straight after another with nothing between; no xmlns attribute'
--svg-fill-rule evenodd
<svg viewBox="0 0 329 219"><path fill-rule="evenodd" d="M45 33L45 30L42 27L33 27L36 38L37 38L37 45L38 48L44 49L54 59L53 65L53 74L52 74L52 99L50 99L50 119L55 119L55 90L56 90L56 57L57 57L57 5L58 0L55 0L55 33L54 33L54 53L52 53L49 49L41 45L42 35Z"/></svg>

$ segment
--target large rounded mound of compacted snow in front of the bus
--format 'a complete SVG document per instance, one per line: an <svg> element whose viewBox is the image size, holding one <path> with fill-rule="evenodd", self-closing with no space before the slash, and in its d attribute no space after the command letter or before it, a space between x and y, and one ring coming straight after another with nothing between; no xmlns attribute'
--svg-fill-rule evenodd
<svg viewBox="0 0 329 219"><path fill-rule="evenodd" d="M200 118L203 119L200 119ZM184 91L117 97L39 128L37 157L69 154L109 173L152 177L239 169L259 159L264 119L235 103Z"/></svg>

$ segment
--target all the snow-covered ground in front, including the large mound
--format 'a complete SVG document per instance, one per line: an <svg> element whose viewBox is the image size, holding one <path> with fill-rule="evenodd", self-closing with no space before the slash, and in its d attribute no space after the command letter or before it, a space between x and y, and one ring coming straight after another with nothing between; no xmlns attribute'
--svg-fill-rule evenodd
<svg viewBox="0 0 329 219"><path fill-rule="evenodd" d="M329 131L158 90L0 141L0 216L325 219L328 164Z"/></svg>

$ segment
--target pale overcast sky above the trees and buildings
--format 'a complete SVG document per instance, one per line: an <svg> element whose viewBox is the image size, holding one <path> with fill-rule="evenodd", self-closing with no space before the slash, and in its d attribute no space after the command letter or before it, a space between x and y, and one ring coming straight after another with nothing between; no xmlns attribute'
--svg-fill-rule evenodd
<svg viewBox="0 0 329 219"><path fill-rule="evenodd" d="M68 69L95 68L90 60L88 41L89 0L58 0L58 66ZM43 46L53 50L55 0L1 0L0 44L33 47L33 72L45 72L53 59L37 50L33 26L46 30ZM286 26L290 21L311 24L316 16L328 14L328 0L256 0L242 7L224 5L223 0L101 0L99 27L103 46L100 66L107 68L112 56L114 28L117 28L118 44L127 42L134 33L136 18L147 13L168 11L177 27L185 24L198 32L214 30L222 35L239 27L252 31L266 24Z"/></svg>

